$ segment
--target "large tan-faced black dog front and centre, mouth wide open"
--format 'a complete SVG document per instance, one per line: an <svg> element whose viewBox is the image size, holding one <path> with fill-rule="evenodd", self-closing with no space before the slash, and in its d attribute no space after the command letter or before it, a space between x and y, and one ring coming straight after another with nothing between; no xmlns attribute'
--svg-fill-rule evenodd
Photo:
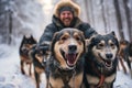
<svg viewBox="0 0 132 88"><path fill-rule="evenodd" d="M80 88L85 53L82 32L64 29L55 33L51 45L47 88Z"/></svg>

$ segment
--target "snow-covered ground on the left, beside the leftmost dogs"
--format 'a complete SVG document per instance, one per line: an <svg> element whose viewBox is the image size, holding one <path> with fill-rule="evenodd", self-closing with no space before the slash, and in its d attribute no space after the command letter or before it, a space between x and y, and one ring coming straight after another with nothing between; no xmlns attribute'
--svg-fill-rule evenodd
<svg viewBox="0 0 132 88"><path fill-rule="evenodd" d="M35 88L34 77L21 74L18 46L1 45L0 48L0 88ZM45 88L45 77L42 77L41 87Z"/></svg>

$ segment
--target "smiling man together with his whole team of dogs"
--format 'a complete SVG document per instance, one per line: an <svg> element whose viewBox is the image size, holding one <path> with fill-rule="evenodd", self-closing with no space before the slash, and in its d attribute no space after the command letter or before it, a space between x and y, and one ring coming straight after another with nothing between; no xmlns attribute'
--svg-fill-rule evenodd
<svg viewBox="0 0 132 88"><path fill-rule="evenodd" d="M61 0L40 41L23 36L20 45L21 72L34 68L36 88L41 74L46 88L113 88L120 62L125 61L131 75L132 43L119 42L112 31L98 34L79 19L80 8L72 0ZM123 59L124 58L124 59Z"/></svg>

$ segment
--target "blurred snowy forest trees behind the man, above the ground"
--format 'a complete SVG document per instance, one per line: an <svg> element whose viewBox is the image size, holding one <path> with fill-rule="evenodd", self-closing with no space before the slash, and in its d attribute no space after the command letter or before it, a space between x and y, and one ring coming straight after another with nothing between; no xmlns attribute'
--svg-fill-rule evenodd
<svg viewBox="0 0 132 88"><path fill-rule="evenodd" d="M15 44L22 35L37 40L52 21L58 0L0 0L0 43ZM132 0L73 0L81 8L80 19L97 32L114 31L119 40L132 41Z"/></svg>

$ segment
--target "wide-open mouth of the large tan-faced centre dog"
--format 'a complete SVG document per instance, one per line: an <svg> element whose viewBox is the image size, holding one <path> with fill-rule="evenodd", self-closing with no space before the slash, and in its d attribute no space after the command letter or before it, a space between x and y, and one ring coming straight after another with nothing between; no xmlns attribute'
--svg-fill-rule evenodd
<svg viewBox="0 0 132 88"><path fill-rule="evenodd" d="M61 51L61 53L62 53L64 59L66 61L66 64L69 67L74 67L78 54L77 53L68 53L68 54L66 54L64 51Z"/></svg>

